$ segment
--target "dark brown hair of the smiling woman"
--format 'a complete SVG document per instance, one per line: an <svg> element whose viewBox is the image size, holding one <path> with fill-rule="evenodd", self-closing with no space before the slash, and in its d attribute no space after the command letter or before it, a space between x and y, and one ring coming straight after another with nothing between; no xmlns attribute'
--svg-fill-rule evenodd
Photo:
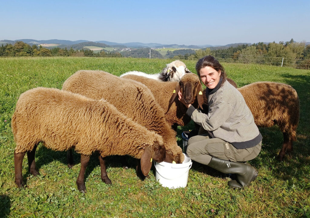
<svg viewBox="0 0 310 218"><path fill-rule="evenodd" d="M199 59L196 63L196 71L199 76L199 79L200 79L200 69L205 68L205 67L211 67L215 69L216 71L219 71L219 70L221 71L220 77L222 78L222 83L221 83L221 86L222 86L224 82L226 81L227 75L226 75L224 67L219 63L219 61L211 55L208 55L208 56L205 56Z"/></svg>

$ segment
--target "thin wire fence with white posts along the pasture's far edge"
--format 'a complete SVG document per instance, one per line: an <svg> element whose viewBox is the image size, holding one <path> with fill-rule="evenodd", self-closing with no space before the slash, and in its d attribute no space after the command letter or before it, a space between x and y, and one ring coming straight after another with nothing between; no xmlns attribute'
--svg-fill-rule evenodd
<svg viewBox="0 0 310 218"><path fill-rule="evenodd" d="M54 51L54 54L53 54ZM57 52L57 53L55 53ZM166 51L161 49L124 49L113 51L67 50L67 49L8 49L0 50L0 57L98 57L98 58L148 58L148 59L188 59L198 60L206 55L212 55L220 62L227 63L256 63L280 67L310 69L310 59L287 57L270 57L260 55L241 55L228 53L215 53L204 51Z"/></svg>

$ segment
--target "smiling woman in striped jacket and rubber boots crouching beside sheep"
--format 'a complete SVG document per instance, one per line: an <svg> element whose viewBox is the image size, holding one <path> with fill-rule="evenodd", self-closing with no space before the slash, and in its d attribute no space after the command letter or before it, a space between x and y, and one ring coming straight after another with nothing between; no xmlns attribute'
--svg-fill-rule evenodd
<svg viewBox="0 0 310 218"><path fill-rule="evenodd" d="M211 55L198 60L196 71L206 85L208 114L179 100L188 108L186 114L208 131L188 140L188 156L223 173L235 173L228 182L233 188L243 188L253 181L258 171L243 163L254 159L261 149L262 135L241 93L226 80L223 66Z"/></svg>

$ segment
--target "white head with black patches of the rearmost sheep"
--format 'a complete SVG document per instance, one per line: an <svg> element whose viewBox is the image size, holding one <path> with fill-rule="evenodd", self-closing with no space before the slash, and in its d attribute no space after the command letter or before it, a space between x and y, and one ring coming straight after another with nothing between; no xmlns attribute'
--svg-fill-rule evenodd
<svg viewBox="0 0 310 218"><path fill-rule="evenodd" d="M185 63L175 60L166 64L159 77L162 81L180 81L186 73L191 73L191 71L186 68Z"/></svg>

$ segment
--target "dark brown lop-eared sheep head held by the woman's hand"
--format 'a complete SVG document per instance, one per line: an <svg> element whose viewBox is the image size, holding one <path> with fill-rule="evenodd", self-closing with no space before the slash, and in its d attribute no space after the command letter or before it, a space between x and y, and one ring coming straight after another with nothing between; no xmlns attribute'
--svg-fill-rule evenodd
<svg viewBox="0 0 310 218"><path fill-rule="evenodd" d="M181 90L181 94L186 104L193 104L197 99L198 105L202 109L202 85L197 75L189 73L184 75L175 87L175 90L173 91L173 94L169 100L167 112L169 111L172 103L175 101L175 98L178 96L179 90Z"/></svg>

